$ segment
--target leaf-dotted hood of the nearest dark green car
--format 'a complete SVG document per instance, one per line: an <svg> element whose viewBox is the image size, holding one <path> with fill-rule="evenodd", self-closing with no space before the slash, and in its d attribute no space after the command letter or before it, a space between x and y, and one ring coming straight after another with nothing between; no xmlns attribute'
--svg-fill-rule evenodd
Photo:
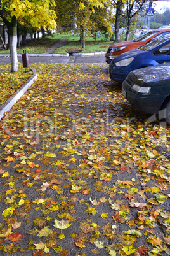
<svg viewBox="0 0 170 256"><path fill-rule="evenodd" d="M170 63L136 69L129 73L131 80L136 83L151 83L152 86L170 80Z"/></svg>

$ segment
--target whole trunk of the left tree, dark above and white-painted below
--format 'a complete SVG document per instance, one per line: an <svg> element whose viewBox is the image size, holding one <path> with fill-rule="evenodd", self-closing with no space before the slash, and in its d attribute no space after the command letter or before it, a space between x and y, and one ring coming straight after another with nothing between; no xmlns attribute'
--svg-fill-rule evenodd
<svg viewBox="0 0 170 256"><path fill-rule="evenodd" d="M10 36L10 58L11 72L18 71L18 56L17 56L17 19L15 16L11 20L11 36Z"/></svg>

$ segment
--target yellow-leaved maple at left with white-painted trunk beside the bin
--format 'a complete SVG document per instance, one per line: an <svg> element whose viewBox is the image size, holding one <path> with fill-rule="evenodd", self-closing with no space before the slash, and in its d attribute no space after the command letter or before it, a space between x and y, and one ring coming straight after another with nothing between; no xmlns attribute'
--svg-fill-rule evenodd
<svg viewBox="0 0 170 256"><path fill-rule="evenodd" d="M56 15L52 6L55 6L54 0L0 0L0 17L10 28L11 72L18 71L17 19L24 17L36 27L55 28Z"/></svg>

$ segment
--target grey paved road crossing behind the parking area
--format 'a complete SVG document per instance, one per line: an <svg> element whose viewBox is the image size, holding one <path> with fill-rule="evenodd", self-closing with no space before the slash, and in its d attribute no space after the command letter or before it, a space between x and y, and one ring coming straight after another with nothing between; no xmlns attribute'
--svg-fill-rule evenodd
<svg viewBox="0 0 170 256"><path fill-rule="evenodd" d="M18 62L22 63L22 58L18 57ZM105 63L105 55L80 55L80 56L29 56L29 63ZM0 64L10 64L10 57L0 57Z"/></svg>

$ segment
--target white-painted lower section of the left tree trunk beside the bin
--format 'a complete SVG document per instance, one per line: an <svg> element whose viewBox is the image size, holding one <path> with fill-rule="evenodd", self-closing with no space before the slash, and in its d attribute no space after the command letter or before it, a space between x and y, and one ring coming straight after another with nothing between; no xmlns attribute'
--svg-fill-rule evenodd
<svg viewBox="0 0 170 256"><path fill-rule="evenodd" d="M18 71L17 35L10 36L11 72Z"/></svg>

